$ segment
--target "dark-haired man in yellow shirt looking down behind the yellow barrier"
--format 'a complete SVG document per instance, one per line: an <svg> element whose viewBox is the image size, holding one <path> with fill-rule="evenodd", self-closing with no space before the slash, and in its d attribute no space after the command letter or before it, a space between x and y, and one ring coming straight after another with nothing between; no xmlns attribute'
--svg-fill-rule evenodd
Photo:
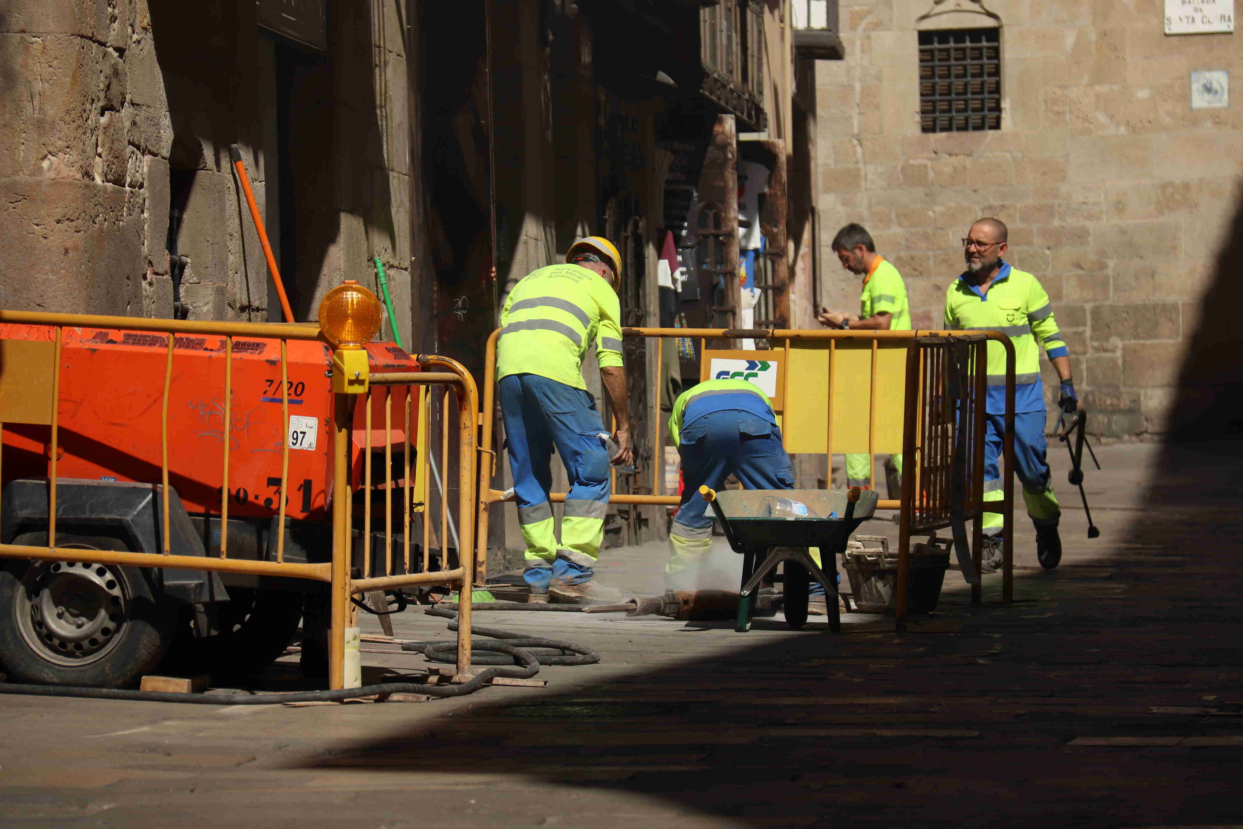
<svg viewBox="0 0 1243 829"><path fill-rule="evenodd" d="M824 311L817 319L830 328L849 331L910 331L911 308L906 301L906 283L897 268L876 252L871 234L863 225L846 225L833 237L833 252L842 267L863 277L859 313ZM868 454L846 455L846 486L871 486L873 457ZM885 461L885 487L889 497L900 497L902 456L891 455Z"/></svg>

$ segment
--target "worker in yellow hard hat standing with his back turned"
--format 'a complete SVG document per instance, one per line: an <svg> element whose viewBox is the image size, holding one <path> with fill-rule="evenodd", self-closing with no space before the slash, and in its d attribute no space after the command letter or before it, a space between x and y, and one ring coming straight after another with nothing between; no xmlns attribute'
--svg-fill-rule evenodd
<svg viewBox="0 0 1243 829"><path fill-rule="evenodd" d="M604 539L609 462L631 462L625 369L622 365L622 257L607 239L574 242L564 265L532 271L501 311L496 375L513 474L518 523L527 543L523 578L531 602L618 602L618 590L592 580ZM583 383L583 354L595 346L600 380L617 418L612 441L595 398ZM552 505L552 451L569 477L557 542Z"/></svg>

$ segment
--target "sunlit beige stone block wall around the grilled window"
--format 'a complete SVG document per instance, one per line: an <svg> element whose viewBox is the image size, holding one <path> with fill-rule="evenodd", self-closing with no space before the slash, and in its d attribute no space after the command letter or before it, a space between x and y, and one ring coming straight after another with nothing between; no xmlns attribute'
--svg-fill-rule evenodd
<svg viewBox="0 0 1243 829"><path fill-rule="evenodd" d="M859 221L906 278L915 324L940 327L945 288L962 271L958 240L992 215L1009 225L1009 261L1053 298L1096 430L1163 433L1180 398L1237 387L1237 372L1183 363L1211 287L1232 278L1243 173L1243 93L1229 108L1192 109L1190 73L1243 77L1243 35L1166 36L1158 0L996 0L987 10L960 0L943 6L967 11L919 21L941 6L843 0L846 58L818 63L830 305L858 305L856 278L827 246ZM997 19L1002 128L922 133L917 30ZM1201 377L1212 388L1197 387Z"/></svg>

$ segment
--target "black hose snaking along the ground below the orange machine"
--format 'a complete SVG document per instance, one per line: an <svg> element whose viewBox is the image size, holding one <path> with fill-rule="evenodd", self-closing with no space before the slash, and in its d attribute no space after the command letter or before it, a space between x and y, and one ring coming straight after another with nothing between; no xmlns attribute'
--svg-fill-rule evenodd
<svg viewBox="0 0 1243 829"><path fill-rule="evenodd" d="M457 614L440 608L428 608L425 611L431 616L451 619L450 630L457 630ZM224 696L218 694L169 694L165 691L134 691L131 689L97 689L77 685L24 685L17 682L0 682L0 694L14 694L19 696L57 696L57 697L87 697L93 700L134 700L142 702L189 702L194 705L282 705L285 702L341 702L355 697L374 696L380 694L423 694L426 696L452 697L465 696L480 689L485 682L495 676L515 679L531 679L539 672L539 665L590 665L600 661L600 655L590 648L583 648L568 641L553 639L528 638L508 630L496 628L477 628L471 625L471 634L479 636L491 636L505 639L507 643L486 641L471 644L471 664L497 665L486 667L467 681L460 685L424 685L421 682L380 682L378 685L364 685L357 689L341 689L337 691L296 691L291 694L251 694L246 696ZM445 653L457 650L456 641L418 643L424 646L424 654L433 661L455 661L452 656L445 657ZM569 651L579 656L566 656L563 654L536 655L525 648L552 649ZM401 646L403 650L419 650L416 648ZM436 649L436 650L433 650ZM433 656L435 653L435 656ZM475 654L490 654L487 661L474 659ZM513 665L510 666L510 660Z"/></svg>

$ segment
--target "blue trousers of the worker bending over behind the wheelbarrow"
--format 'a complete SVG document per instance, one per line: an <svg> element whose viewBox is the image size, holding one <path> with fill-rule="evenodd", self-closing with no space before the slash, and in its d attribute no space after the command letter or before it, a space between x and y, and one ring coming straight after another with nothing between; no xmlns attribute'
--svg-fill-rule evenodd
<svg viewBox="0 0 1243 829"><path fill-rule="evenodd" d="M781 429L746 411L713 411L682 426L679 452L685 488L674 522L689 529L712 526L699 488L718 490L731 472L748 490L794 487L794 467L781 445Z"/></svg>

